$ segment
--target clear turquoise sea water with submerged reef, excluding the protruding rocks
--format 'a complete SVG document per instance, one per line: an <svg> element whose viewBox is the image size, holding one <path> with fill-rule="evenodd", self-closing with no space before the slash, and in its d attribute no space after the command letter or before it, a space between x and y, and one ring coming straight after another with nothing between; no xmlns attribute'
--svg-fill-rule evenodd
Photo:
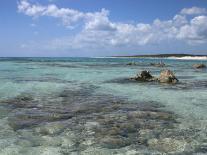
<svg viewBox="0 0 207 155"><path fill-rule="evenodd" d="M0 155L207 154L207 61L159 61L0 58ZM178 84L129 80L166 68Z"/></svg>

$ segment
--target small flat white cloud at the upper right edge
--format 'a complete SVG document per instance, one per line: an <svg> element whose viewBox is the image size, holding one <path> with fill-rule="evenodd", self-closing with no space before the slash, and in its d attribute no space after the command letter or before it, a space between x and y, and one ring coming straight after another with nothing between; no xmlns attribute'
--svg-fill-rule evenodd
<svg viewBox="0 0 207 155"><path fill-rule="evenodd" d="M207 10L205 8L199 8L199 7L192 7L192 8L184 8L180 12L184 15L200 15L207 13Z"/></svg>

